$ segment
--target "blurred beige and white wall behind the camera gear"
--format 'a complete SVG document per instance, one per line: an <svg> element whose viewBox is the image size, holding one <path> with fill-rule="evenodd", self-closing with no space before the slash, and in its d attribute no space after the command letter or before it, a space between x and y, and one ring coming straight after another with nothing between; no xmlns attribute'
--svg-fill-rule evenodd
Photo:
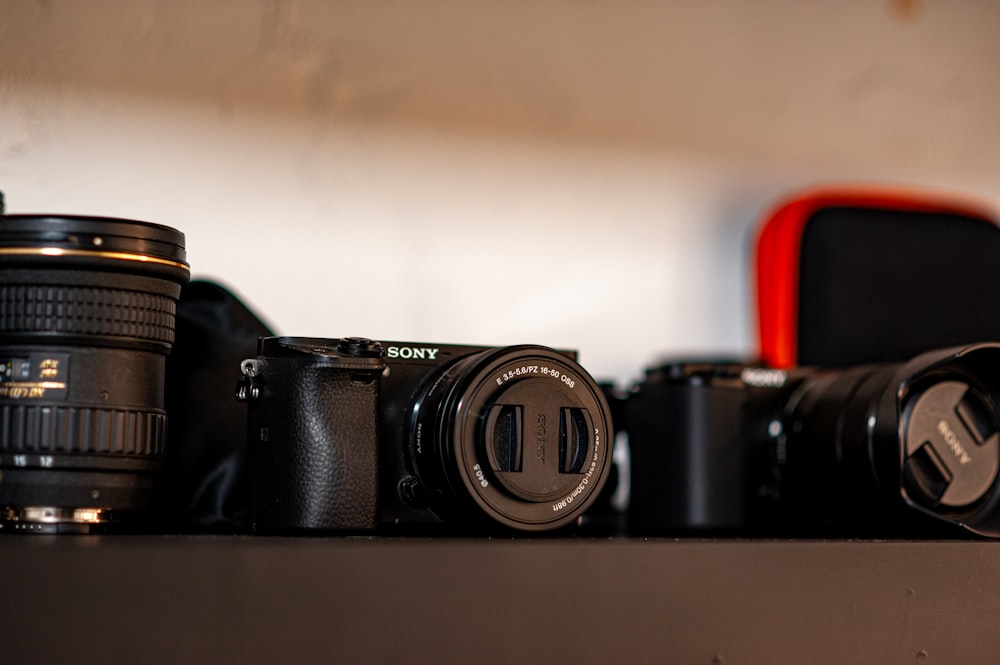
<svg viewBox="0 0 1000 665"><path fill-rule="evenodd" d="M8 210L175 226L285 334L750 353L778 197L998 174L992 0L0 0Z"/></svg>

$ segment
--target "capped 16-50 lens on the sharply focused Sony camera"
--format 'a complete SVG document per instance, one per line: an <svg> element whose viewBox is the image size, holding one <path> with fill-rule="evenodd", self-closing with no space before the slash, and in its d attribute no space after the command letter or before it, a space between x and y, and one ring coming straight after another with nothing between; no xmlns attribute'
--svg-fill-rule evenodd
<svg viewBox="0 0 1000 665"><path fill-rule="evenodd" d="M574 522L597 497L611 431L607 402L577 363L506 347L442 370L416 405L411 450L427 487L539 531Z"/></svg>

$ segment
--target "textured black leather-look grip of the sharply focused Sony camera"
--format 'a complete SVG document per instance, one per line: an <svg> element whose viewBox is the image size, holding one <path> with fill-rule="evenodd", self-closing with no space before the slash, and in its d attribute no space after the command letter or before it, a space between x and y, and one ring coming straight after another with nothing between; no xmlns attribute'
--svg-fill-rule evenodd
<svg viewBox="0 0 1000 665"><path fill-rule="evenodd" d="M378 372L268 359L250 401L255 531L373 529L378 517Z"/></svg>

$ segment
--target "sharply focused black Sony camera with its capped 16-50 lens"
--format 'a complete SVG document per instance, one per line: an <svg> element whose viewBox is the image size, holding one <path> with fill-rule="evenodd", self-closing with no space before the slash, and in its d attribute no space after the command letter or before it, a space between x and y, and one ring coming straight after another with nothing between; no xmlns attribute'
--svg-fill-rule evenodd
<svg viewBox="0 0 1000 665"><path fill-rule="evenodd" d="M556 529L611 467L573 352L268 337L244 361L256 532Z"/></svg>

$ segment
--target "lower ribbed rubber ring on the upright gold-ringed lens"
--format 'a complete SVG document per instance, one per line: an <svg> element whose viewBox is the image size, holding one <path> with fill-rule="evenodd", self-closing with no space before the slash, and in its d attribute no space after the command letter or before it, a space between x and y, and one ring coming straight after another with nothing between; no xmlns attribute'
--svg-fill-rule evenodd
<svg viewBox="0 0 1000 665"><path fill-rule="evenodd" d="M0 452L163 455L167 416L162 412L73 406L6 404L0 407Z"/></svg>

